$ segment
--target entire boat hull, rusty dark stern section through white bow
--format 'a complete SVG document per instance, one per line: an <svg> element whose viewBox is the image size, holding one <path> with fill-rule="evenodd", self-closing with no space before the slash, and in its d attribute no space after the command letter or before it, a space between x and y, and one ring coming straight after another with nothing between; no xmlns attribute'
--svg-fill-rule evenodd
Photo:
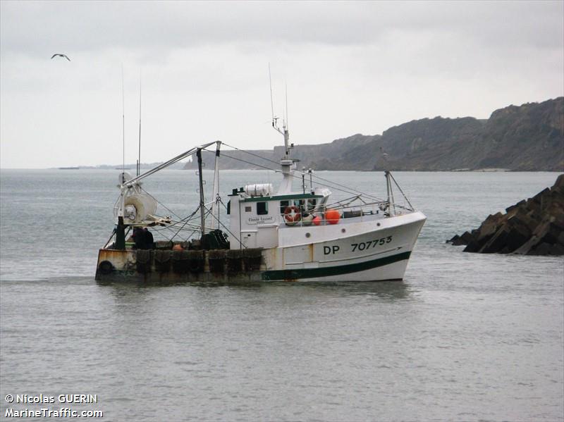
<svg viewBox="0 0 564 422"><path fill-rule="evenodd" d="M173 256L170 256L171 261L168 261L164 270L157 268L156 252L147 255L149 261L140 266L140 251L101 249L96 278L101 281L142 283L401 280L425 219L420 212L369 221L345 219L337 225L321 228L322 233L317 232L316 236L324 235L324 239L301 244L302 238L313 237L314 230L308 231L310 228L307 226L283 229L281 238L286 246L254 249L258 252L259 262L247 266L247 263L241 263L245 259L239 258L235 271L226 255L231 253L229 251L223 251L225 257L219 271L212 268L212 252L200 254L197 268L185 266L176 271Z"/></svg>

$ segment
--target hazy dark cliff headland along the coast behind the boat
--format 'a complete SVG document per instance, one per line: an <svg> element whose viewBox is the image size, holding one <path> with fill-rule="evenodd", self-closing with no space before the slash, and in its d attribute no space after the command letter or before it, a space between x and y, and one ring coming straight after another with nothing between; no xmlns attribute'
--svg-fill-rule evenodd
<svg viewBox="0 0 564 422"><path fill-rule="evenodd" d="M382 153L388 156L386 162ZM278 161L282 147L252 151ZM240 151L227 156L257 161ZM353 135L329 144L297 145L293 158L298 168L317 170L507 170L561 171L564 169L564 97L541 103L508 106L491 113L487 120L423 118L394 126L382 135ZM213 167L213 156L204 158ZM195 168L188 163L185 168ZM242 161L222 162L223 168L259 168Z"/></svg>

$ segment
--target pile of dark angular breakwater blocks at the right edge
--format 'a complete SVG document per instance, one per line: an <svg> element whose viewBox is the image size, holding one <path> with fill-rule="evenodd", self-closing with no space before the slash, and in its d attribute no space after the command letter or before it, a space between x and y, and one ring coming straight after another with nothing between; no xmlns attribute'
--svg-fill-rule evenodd
<svg viewBox="0 0 564 422"><path fill-rule="evenodd" d="M564 174L534 197L505 213L489 215L479 228L447 243L481 254L564 255Z"/></svg>

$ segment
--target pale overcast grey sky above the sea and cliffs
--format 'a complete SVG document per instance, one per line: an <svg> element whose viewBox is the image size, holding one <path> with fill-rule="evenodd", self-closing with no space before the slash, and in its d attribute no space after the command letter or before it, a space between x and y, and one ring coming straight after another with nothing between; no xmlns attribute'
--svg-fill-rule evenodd
<svg viewBox="0 0 564 422"><path fill-rule="evenodd" d="M271 149L269 66L295 144L488 118L564 95L564 1L0 1L0 167Z"/></svg>

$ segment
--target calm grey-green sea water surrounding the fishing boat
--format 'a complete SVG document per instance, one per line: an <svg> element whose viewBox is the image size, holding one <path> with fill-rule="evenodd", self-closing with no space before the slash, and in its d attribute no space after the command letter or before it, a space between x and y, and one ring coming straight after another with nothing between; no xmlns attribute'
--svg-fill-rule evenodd
<svg viewBox="0 0 564 422"><path fill-rule="evenodd" d="M445 244L556 173L394 173L428 217L403 282L166 287L94 280L118 173L1 171L0 418L69 409L104 421L564 419L564 259ZM315 174L386 196L381 173ZM226 171L221 197L278 180ZM164 170L143 188L163 216L197 206L192 171ZM60 401L75 395L96 401Z"/></svg>

